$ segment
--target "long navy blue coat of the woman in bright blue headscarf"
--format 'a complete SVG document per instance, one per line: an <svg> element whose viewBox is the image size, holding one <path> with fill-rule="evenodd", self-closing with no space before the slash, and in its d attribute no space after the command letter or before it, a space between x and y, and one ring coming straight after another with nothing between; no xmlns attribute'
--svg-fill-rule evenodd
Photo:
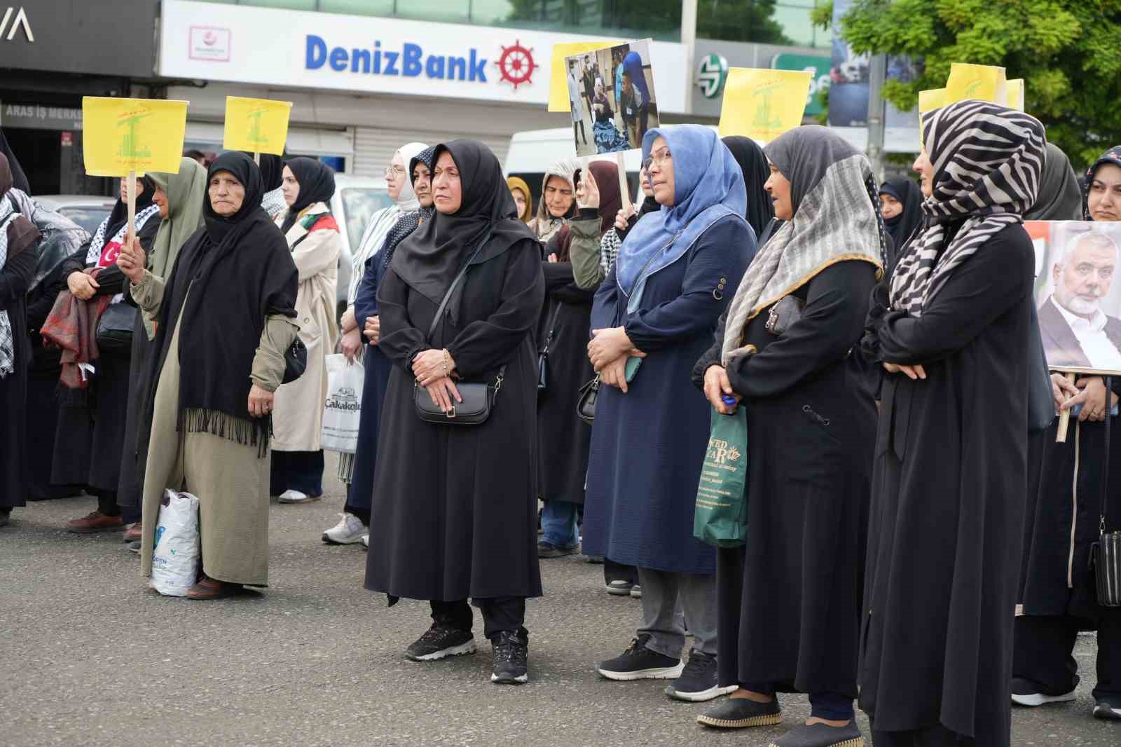
<svg viewBox="0 0 1121 747"><path fill-rule="evenodd" d="M689 376L754 252L743 221L720 219L647 279L636 313L627 313L614 269L596 292L592 329L622 325L648 358L627 394L600 387L584 502L589 555L658 571L715 573L715 550L693 538L711 407Z"/></svg>

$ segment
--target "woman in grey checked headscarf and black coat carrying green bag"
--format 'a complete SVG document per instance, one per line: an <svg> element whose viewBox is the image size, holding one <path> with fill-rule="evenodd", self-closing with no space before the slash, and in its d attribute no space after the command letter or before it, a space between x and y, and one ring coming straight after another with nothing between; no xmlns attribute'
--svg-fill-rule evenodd
<svg viewBox="0 0 1121 747"><path fill-rule="evenodd" d="M800 127L765 153L785 223L694 371L713 408L748 422L745 546L721 550L717 571L721 684L739 690L697 720L778 723L776 693L805 692L809 719L771 744L855 747L876 409L850 350L886 239L868 159L840 137Z"/></svg>

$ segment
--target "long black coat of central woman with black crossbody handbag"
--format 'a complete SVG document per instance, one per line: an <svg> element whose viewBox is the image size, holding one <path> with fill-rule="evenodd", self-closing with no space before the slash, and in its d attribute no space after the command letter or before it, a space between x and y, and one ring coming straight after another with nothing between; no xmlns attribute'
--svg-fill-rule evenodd
<svg viewBox="0 0 1121 747"><path fill-rule="evenodd" d="M392 267L386 273L378 347L393 370L373 478L370 591L445 601L541 594L534 325L544 286L540 245L519 240L467 270L455 322L445 315L428 340L437 304ZM507 366L490 419L474 426L419 419L410 363L429 348L447 348L469 382L493 382Z"/></svg>

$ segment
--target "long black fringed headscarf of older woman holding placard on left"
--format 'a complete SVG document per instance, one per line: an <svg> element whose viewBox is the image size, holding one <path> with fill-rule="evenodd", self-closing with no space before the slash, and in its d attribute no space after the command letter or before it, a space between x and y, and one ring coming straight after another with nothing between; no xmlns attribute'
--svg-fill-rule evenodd
<svg viewBox="0 0 1121 747"><path fill-rule="evenodd" d="M214 212L207 196L203 228L179 251L160 306L149 381L159 380L176 324L185 370L179 381L178 430L212 433L268 449L268 418L249 415L253 357L270 314L296 316L298 273L284 234L261 209L261 172L243 153L224 153L207 183L228 172L245 188L233 215ZM191 292L189 295L187 292ZM155 386L148 391L152 412ZM232 418L232 419L231 419ZM150 423L150 421L149 421Z"/></svg>

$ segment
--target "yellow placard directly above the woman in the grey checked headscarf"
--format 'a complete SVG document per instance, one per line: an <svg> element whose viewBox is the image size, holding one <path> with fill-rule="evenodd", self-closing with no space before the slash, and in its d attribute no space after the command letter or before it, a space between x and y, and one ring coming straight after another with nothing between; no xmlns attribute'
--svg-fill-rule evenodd
<svg viewBox="0 0 1121 747"><path fill-rule="evenodd" d="M720 110L720 136L770 141L802 125L813 73L805 70L731 67Z"/></svg>

